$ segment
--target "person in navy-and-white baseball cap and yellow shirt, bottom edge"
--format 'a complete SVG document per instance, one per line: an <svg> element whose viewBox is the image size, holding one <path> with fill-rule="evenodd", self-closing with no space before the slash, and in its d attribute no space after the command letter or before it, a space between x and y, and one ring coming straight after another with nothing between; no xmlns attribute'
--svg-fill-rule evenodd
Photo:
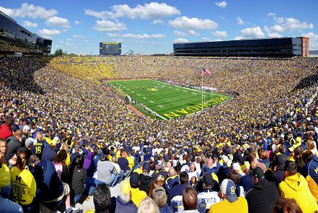
<svg viewBox="0 0 318 213"><path fill-rule="evenodd" d="M222 202L211 205L210 213L235 212L248 213L247 200L245 197L237 197L235 194L235 183L232 180L224 179L220 184L218 195Z"/></svg>

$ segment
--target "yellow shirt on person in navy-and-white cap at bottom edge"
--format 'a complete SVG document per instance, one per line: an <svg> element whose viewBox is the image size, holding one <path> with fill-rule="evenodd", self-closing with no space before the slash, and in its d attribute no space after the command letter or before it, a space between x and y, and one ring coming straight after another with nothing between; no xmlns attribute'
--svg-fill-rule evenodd
<svg viewBox="0 0 318 213"><path fill-rule="evenodd" d="M235 202L223 200L222 202L211 205L209 213L218 212L248 213L249 207L247 205L247 200L245 199L245 197L237 197L237 200Z"/></svg>

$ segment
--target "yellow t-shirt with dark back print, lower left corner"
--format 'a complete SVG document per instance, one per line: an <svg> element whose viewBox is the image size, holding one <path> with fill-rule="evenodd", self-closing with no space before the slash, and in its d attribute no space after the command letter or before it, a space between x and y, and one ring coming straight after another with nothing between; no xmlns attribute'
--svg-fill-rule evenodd
<svg viewBox="0 0 318 213"><path fill-rule="evenodd" d="M26 169L20 171L16 166L11 168L10 173L13 200L23 205L29 205L33 201L37 190L37 184L32 173Z"/></svg>

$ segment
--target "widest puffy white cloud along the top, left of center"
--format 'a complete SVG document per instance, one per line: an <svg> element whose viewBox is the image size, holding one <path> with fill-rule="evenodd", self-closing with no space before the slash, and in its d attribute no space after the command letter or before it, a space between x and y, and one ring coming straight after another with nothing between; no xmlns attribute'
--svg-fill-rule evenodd
<svg viewBox="0 0 318 213"><path fill-rule="evenodd" d="M141 18L141 19L155 19L158 20L160 18L179 15L180 11L174 7L169 6L165 3L158 3L158 2L151 2L149 4L137 5L134 8L126 4L114 5L112 6L111 11L93 11L93 10L86 10L86 15L95 16L97 18L112 18L117 19L121 17L127 18Z"/></svg>

